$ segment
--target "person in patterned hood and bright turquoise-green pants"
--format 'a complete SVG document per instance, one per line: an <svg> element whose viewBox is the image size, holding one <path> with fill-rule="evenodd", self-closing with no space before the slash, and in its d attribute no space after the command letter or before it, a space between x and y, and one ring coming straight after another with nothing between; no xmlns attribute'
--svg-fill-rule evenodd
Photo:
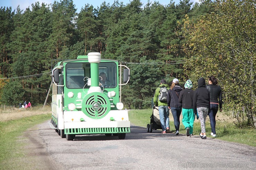
<svg viewBox="0 0 256 170"><path fill-rule="evenodd" d="M186 135L191 137L193 134L195 114L193 111L193 84L191 80L187 80L185 90L182 90L179 97L179 102L182 105L182 123L186 129Z"/></svg>

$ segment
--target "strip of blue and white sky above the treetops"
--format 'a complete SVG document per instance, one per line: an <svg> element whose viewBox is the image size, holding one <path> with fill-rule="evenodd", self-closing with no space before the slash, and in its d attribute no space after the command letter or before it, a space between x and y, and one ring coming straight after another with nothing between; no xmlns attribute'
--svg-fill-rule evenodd
<svg viewBox="0 0 256 170"><path fill-rule="evenodd" d="M57 0L58 2L60 2L60 0ZM112 5L114 3L115 0L73 0L73 3L75 4L75 8L77 8L76 12L80 12L81 8L85 7L85 4L90 4L92 5L94 8L100 7L101 3L106 1L106 3L109 3L110 5ZM124 4L126 5L127 3L130 2L130 0L118 0L119 3L120 2L124 2ZM141 3L143 3L142 7L145 6L147 4L148 0L140 0ZM167 5L170 3L170 0L150 0L150 2L154 2L154 1L158 1L160 4L162 5ZM191 2L198 2L199 0L190 0ZM12 11L14 9L16 9L18 7L18 5L20 5L20 9L24 10L28 7L30 7L31 10L31 4L35 2L39 2L40 4L42 4L42 2L44 2L45 4L50 4L53 3L54 0L0 0L0 6L1 7L11 7ZM180 2L180 0L174 0L175 4L178 4Z"/></svg>

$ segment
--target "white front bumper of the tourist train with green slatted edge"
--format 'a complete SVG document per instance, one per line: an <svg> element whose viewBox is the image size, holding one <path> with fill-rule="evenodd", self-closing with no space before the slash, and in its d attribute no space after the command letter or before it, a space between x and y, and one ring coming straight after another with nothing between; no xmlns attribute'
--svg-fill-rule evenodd
<svg viewBox="0 0 256 170"><path fill-rule="evenodd" d="M88 118L82 111L64 111L65 134L130 133L126 110L110 111L102 119Z"/></svg>

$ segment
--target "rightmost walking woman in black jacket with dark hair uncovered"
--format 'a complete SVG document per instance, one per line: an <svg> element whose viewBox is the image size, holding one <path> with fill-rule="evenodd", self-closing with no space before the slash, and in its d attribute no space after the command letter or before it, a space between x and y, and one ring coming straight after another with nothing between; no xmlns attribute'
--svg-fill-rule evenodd
<svg viewBox="0 0 256 170"><path fill-rule="evenodd" d="M216 114L218 112L218 109L220 108L220 112L222 111L222 91L220 86L218 86L217 79L213 76L211 76L208 80L209 85L207 85L207 89L210 91L210 113L209 118L211 122L211 136L216 137Z"/></svg>

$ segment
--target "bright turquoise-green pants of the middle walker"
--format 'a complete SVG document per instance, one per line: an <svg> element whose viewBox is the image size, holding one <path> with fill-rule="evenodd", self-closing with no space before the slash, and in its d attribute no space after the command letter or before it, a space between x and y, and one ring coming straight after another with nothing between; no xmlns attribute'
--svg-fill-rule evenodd
<svg viewBox="0 0 256 170"><path fill-rule="evenodd" d="M185 127L185 129L189 128L189 133L193 134L193 126L194 126L194 120L195 120L195 114L193 112L193 109L184 109L182 108L182 123Z"/></svg>

